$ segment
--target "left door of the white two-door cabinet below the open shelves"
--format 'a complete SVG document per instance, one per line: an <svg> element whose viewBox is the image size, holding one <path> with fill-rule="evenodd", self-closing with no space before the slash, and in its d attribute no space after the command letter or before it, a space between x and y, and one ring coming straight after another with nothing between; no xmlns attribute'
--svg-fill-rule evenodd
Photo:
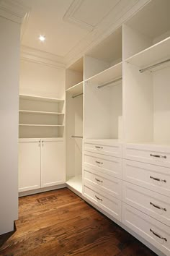
<svg viewBox="0 0 170 256"><path fill-rule="evenodd" d="M19 140L19 192L40 188L40 140Z"/></svg>

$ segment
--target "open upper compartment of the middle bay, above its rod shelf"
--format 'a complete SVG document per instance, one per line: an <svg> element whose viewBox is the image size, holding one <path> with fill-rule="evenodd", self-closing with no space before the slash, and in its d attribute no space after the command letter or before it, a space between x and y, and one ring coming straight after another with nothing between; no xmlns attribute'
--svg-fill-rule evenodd
<svg viewBox="0 0 170 256"><path fill-rule="evenodd" d="M86 53L84 57L84 79L89 80L99 73L104 74L104 82L122 75L122 28L119 27L97 46ZM118 67L112 70L112 67ZM107 74L108 70L108 74ZM116 74L115 74L116 72ZM95 81L96 82L96 81ZM97 81L103 82L102 80Z"/></svg>

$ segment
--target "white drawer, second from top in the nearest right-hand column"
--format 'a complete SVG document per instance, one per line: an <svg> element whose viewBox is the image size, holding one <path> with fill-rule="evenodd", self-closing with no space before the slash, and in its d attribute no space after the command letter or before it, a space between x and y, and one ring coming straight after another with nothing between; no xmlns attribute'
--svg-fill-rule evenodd
<svg viewBox="0 0 170 256"><path fill-rule="evenodd" d="M170 168L123 159L122 179L170 197Z"/></svg>

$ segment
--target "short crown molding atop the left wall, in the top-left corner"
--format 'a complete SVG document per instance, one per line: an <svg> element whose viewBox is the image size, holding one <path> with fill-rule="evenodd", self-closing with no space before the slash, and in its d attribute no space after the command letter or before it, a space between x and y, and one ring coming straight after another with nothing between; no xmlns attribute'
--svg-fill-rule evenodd
<svg viewBox="0 0 170 256"><path fill-rule="evenodd" d="M30 12L21 0L0 0L0 16L21 24Z"/></svg>

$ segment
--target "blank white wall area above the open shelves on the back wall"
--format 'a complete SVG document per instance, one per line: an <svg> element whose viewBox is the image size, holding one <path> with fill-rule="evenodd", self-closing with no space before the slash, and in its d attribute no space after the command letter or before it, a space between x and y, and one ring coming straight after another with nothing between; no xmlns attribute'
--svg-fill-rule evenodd
<svg viewBox="0 0 170 256"><path fill-rule="evenodd" d="M27 59L21 61L19 93L64 98L66 69Z"/></svg>

